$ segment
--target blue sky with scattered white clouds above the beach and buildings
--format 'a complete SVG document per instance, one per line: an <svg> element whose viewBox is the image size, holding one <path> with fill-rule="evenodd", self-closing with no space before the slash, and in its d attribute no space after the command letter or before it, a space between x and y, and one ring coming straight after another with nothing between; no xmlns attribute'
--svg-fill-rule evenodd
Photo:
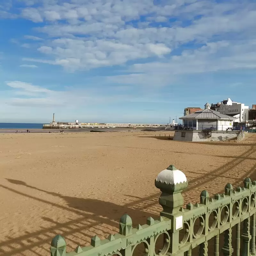
<svg viewBox="0 0 256 256"><path fill-rule="evenodd" d="M168 123L256 103L254 0L2 0L0 122Z"/></svg>

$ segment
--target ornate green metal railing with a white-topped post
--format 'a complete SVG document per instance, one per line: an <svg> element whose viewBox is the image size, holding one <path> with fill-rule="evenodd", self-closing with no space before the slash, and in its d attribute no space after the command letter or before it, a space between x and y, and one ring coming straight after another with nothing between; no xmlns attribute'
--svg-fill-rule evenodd
<svg viewBox="0 0 256 256"><path fill-rule="evenodd" d="M52 256L136 256L134 251L143 244L144 256L156 255L192 255L192 249L199 245L199 255L208 255L208 241L213 241L210 255L224 256L255 255L256 181L244 180L243 188L234 189L230 183L224 194L213 197L204 190L200 203L189 203L183 208L181 192L188 187L185 174L170 165L160 172L155 186L162 191L159 204L163 207L160 218L149 217L147 224L132 227L132 219L125 214L119 223L119 233L100 240L98 236L91 239L91 245L77 246L74 252L66 252L66 242L60 235L51 243ZM252 220L252 221L251 221ZM240 229L240 224L242 230ZM235 236L232 237L232 228ZM223 246L220 248L220 235L224 233ZM156 241L163 236L162 250L155 252ZM235 244L235 246L234 246ZM234 252L234 246L235 252ZM193 254L194 255L194 254Z"/></svg>

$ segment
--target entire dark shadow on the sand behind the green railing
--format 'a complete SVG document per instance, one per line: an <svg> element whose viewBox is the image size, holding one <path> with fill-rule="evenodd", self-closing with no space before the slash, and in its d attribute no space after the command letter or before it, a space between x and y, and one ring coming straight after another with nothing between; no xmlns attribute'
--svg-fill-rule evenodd
<svg viewBox="0 0 256 256"><path fill-rule="evenodd" d="M238 164L242 164L247 159L254 159L254 157L251 157L251 154L253 154L256 150L256 146L253 146L250 144L250 148L242 153L239 156L236 156L234 158L231 158L231 160L210 171L205 174L200 175L198 178L194 178L189 180L189 186L184 191L185 192L185 203L188 203L191 198L187 198L186 195L192 194L191 190L197 191L196 189L201 186L209 186L207 183L212 183L214 179L217 177L225 177L225 180L228 182L228 177L230 177L230 173L232 172L233 168L235 168ZM223 156L225 157L225 156ZM228 156L227 156L228 157ZM229 157L230 158L230 157ZM245 177L250 177L252 180L256 178L256 163L247 170L246 172L241 172L239 174L239 177L237 177L236 181L233 183L234 187L241 186L243 183L243 180ZM189 177L189 176L188 176ZM189 179L189 178L188 178ZM71 197L71 196L63 196L59 193L46 191L40 188L36 188L34 186L31 186L23 181L20 180L13 180L13 179L7 179L11 187L7 187L4 185L0 185L0 187L7 189L9 191L12 191L13 193L24 196L45 204L50 204L53 207L56 207L56 211L62 211L66 210L69 212L72 212L76 214L75 219L69 219L68 221L64 223L60 223L56 220L53 220L51 218L41 217L43 220L46 220L51 223L51 227L36 227L34 232L27 232L25 235L18 235L17 237L5 237L4 241L0 242L0 254L3 254L5 256L11 256L11 255L49 255L49 246L51 243L52 238L56 234L61 234L65 237L68 236L67 244L68 244L68 251L74 250L76 247L77 242L79 241L81 245L87 245L90 241L90 237L88 237L88 234L85 233L86 230L93 230L94 235L98 235L100 238L107 237L108 234L115 234L118 230L118 222L120 217L124 213L128 213L133 220L133 225L137 225L138 223L144 224L146 222L146 218L149 216L152 216L153 218L158 218L158 214L150 214L146 211L146 209L149 209L152 207L153 209L159 209L158 205L158 197L159 193L149 195L144 198L140 198L137 196L129 196L132 201L128 204L125 204L124 206L117 205L111 202L104 202L98 199L89 199L89 198L77 198L77 197ZM13 185L16 186L24 186L26 188L31 189L31 195L28 195L26 193L20 192L13 187ZM206 188L207 189L207 188ZM224 188L223 188L224 189ZM220 193L223 191L218 190L214 191L214 193ZM59 197L63 200L65 200L66 205L62 204L56 204L48 200L44 200L40 197L32 196L33 191L40 191L52 196ZM194 192L195 192L194 191ZM209 191L210 195L213 193ZM197 200L199 201L199 195L200 192L196 192ZM194 202L195 203L195 202ZM89 213L90 214L89 214ZM158 211L159 212L159 211ZM86 222L86 225L84 225L84 222ZM108 231L104 231L103 227L112 227L108 228ZM105 229L106 230L106 229ZM108 233L108 234L107 234ZM220 236L220 243L223 242L222 234ZM45 247L45 244L47 244L47 247ZM70 245L72 244L72 245ZM212 247L212 243L209 242L209 252L213 252L210 250ZM221 248L221 244L220 244ZM194 252L192 252L192 255ZM210 253L211 254L211 253ZM210 255L209 254L209 255Z"/></svg>

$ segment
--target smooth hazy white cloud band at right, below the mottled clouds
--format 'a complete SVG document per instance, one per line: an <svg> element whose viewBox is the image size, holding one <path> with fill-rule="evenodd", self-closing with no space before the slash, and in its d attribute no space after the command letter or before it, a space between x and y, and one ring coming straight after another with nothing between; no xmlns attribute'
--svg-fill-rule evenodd
<svg viewBox="0 0 256 256"><path fill-rule="evenodd" d="M164 62L133 64L128 69L132 74L109 76L108 79L117 84L159 86L173 83L178 75L256 69L255 47L256 40L212 42L196 50L183 51Z"/></svg>

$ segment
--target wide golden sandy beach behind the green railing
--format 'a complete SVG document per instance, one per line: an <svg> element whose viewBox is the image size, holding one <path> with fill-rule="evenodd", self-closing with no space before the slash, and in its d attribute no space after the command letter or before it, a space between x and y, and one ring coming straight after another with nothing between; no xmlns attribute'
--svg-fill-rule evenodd
<svg viewBox="0 0 256 256"><path fill-rule="evenodd" d="M241 144L202 144L154 135L0 134L0 255L50 255L56 234L66 238L69 252L94 235L118 232L124 213L134 226L157 218L154 180L170 164L187 176L185 204L198 202L204 189L212 196L228 182L236 187L247 176L256 179L253 136Z"/></svg>

